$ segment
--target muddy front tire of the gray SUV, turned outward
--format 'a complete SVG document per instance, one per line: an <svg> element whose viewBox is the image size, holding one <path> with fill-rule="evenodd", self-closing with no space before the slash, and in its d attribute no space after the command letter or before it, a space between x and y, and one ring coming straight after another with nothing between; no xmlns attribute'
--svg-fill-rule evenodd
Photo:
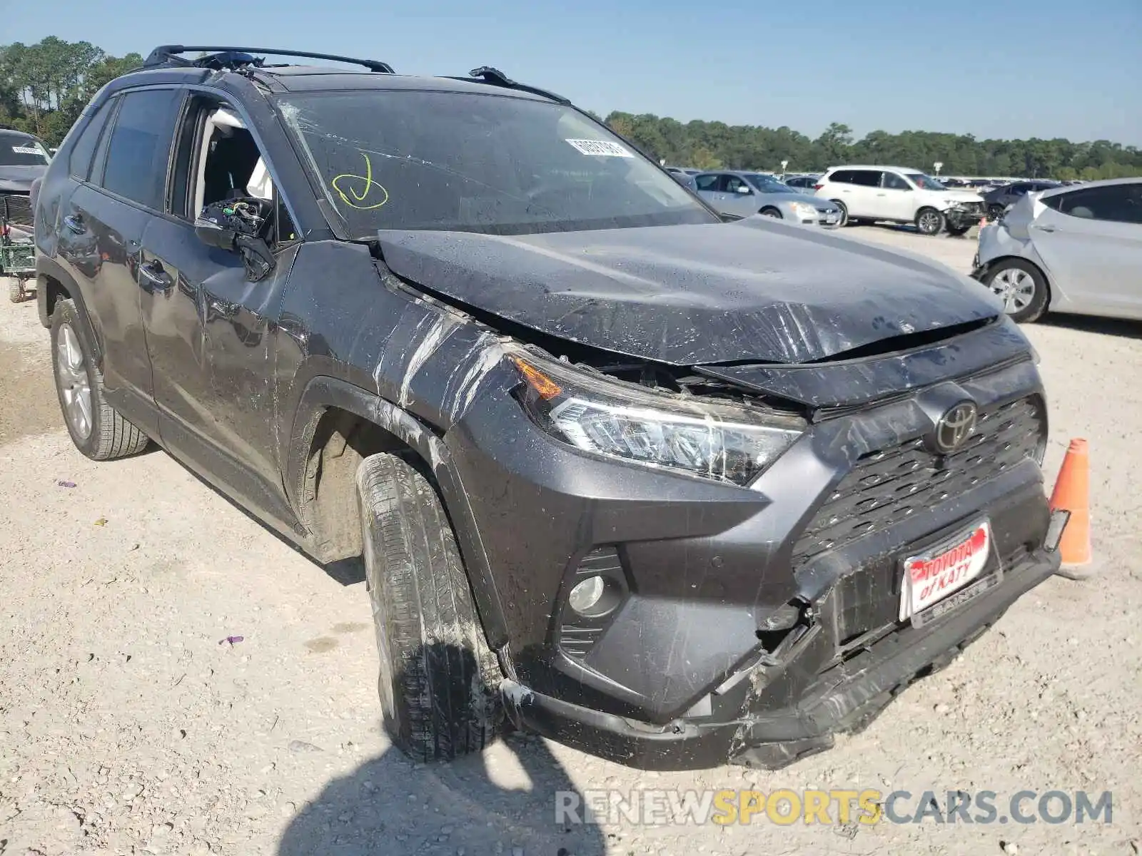
<svg viewBox="0 0 1142 856"><path fill-rule="evenodd" d="M436 491L391 454L356 471L385 728L420 761L478 752L502 720L499 664Z"/></svg>

